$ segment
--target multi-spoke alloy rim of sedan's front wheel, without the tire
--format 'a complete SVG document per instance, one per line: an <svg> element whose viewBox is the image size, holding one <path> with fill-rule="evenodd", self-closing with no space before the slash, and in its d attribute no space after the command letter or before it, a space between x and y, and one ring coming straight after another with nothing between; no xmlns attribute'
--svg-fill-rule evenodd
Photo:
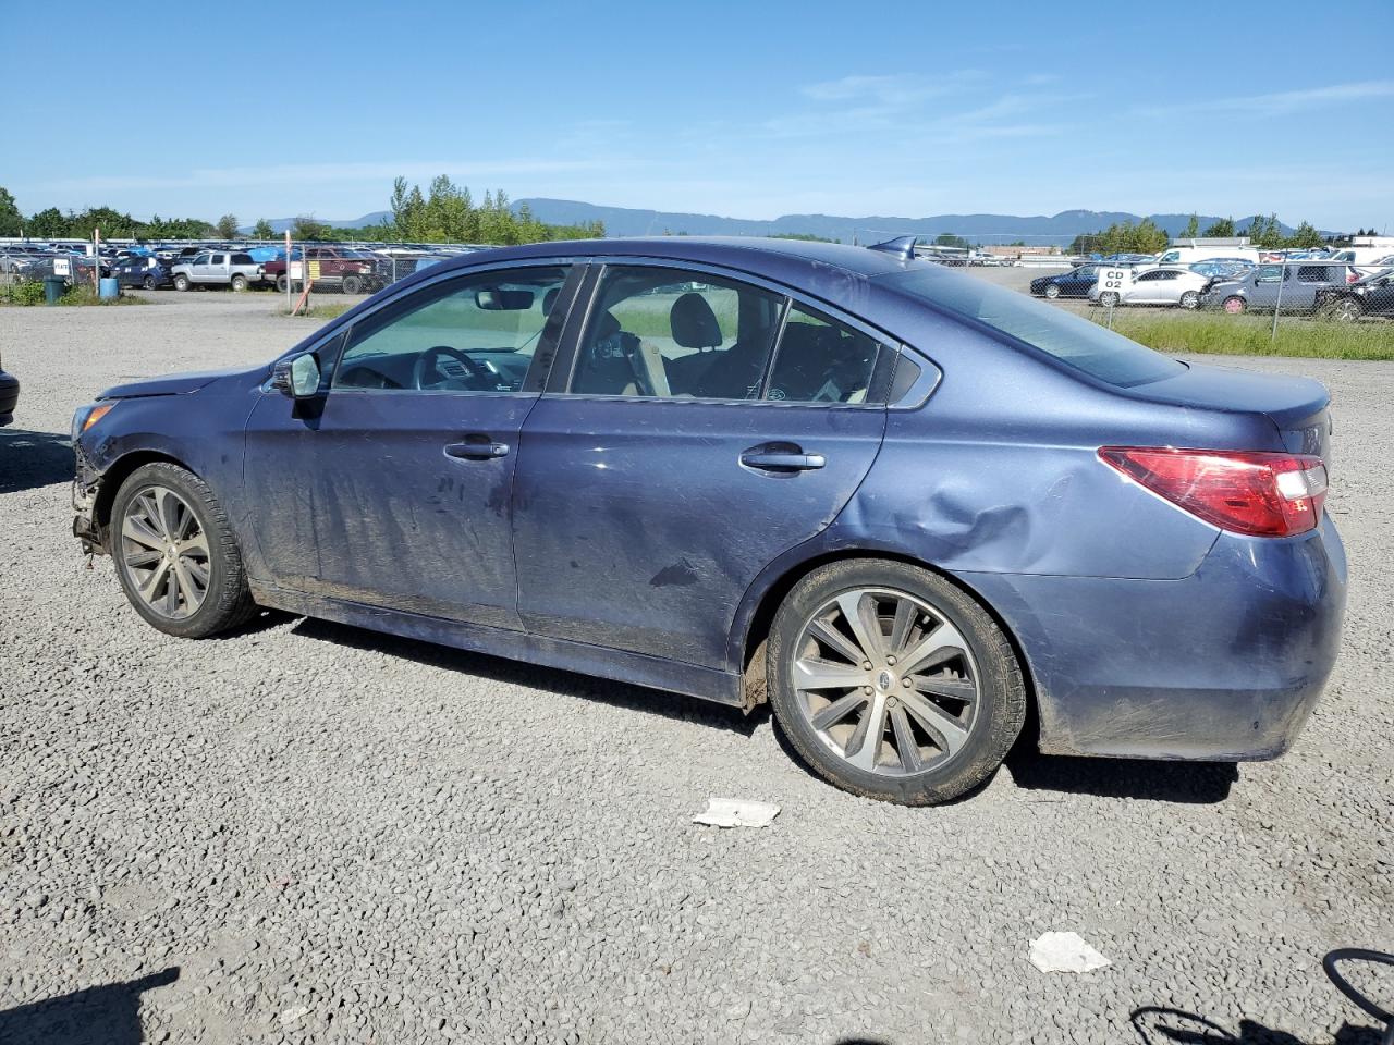
<svg viewBox="0 0 1394 1045"><path fill-rule="evenodd" d="M120 563L131 591L162 617L183 620L208 598L208 536L188 502L167 486L146 486L131 497Z"/></svg>

